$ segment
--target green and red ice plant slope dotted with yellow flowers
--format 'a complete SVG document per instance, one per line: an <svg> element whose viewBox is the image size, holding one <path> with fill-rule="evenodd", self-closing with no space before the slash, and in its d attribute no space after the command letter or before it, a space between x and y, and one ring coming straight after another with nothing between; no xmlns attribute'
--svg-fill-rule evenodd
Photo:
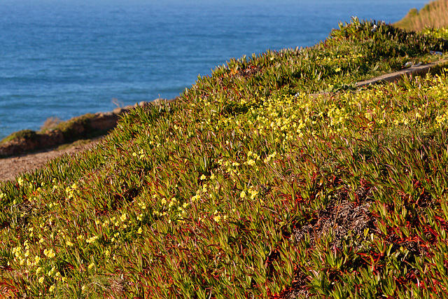
<svg viewBox="0 0 448 299"><path fill-rule="evenodd" d="M447 48L355 19L2 183L3 297L444 298L448 77L353 83Z"/></svg>

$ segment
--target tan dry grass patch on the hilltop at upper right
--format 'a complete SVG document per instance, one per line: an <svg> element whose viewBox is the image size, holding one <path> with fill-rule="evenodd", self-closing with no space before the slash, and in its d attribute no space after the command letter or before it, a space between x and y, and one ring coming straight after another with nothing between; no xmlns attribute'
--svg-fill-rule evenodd
<svg viewBox="0 0 448 299"><path fill-rule="evenodd" d="M395 27L421 31L425 27L440 28L448 25L448 0L430 1L420 11L412 8Z"/></svg>

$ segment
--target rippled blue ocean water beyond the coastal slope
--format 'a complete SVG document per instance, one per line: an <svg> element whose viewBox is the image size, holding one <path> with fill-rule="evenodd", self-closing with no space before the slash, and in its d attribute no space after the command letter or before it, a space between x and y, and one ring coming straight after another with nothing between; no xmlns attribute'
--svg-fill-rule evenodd
<svg viewBox="0 0 448 299"><path fill-rule="evenodd" d="M176 97L231 57L312 46L425 0L0 0L0 139L49 117Z"/></svg>

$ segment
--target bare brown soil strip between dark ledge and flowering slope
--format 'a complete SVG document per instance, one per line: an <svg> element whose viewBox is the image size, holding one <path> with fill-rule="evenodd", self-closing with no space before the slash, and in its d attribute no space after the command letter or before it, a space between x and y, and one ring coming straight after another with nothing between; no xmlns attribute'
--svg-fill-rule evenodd
<svg viewBox="0 0 448 299"><path fill-rule="evenodd" d="M18 176L23 172L33 172L35 169L45 165L48 160L62 155L76 155L98 142L99 140L95 140L91 141L89 144L73 145L59 151L56 148L51 148L40 153L31 153L28 155L0 159L0 181L13 180L15 176Z"/></svg>

